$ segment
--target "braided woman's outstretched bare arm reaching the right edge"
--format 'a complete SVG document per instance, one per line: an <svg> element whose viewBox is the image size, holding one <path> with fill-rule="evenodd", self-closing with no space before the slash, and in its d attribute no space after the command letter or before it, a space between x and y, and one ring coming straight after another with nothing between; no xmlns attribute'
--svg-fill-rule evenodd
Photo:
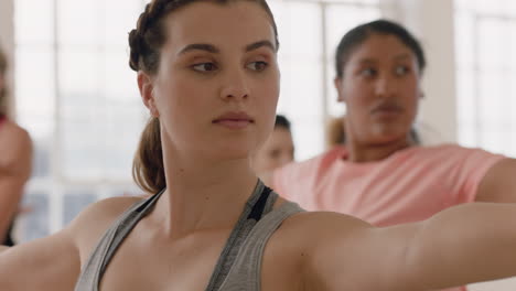
<svg viewBox="0 0 516 291"><path fill-rule="evenodd" d="M471 203L386 228L303 216L314 290L434 290L516 276L516 204Z"/></svg>

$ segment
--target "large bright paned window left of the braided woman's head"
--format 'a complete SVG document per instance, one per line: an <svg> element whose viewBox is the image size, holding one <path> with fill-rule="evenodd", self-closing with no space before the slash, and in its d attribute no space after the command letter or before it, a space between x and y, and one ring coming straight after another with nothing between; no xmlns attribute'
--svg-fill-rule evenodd
<svg viewBox="0 0 516 291"><path fill-rule="evenodd" d="M131 160L146 114L127 33L142 0L17 0L18 117L35 143L19 238L60 229L87 204L137 192ZM127 84L135 84L128 86Z"/></svg>

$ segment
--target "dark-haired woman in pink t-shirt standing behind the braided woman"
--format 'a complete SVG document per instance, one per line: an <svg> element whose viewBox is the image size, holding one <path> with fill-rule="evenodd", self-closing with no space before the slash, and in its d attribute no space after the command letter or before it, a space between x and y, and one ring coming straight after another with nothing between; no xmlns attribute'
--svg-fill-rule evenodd
<svg viewBox="0 0 516 291"><path fill-rule="evenodd" d="M423 97L419 42L390 21L346 33L335 88L346 105L345 146L292 163L268 181L309 211L377 226L419 222L469 202L516 202L516 161L454 144L420 147L411 129Z"/></svg>

